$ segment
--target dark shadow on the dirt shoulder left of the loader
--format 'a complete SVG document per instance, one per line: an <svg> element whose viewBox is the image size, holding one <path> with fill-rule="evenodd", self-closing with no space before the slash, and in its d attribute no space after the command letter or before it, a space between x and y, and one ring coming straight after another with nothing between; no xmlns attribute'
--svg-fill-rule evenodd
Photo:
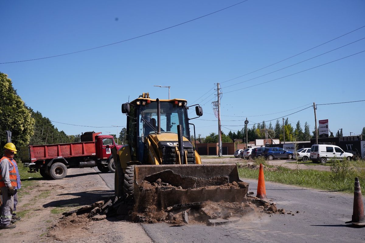
<svg viewBox="0 0 365 243"><path fill-rule="evenodd" d="M85 174L84 174L85 175ZM99 200L107 199L114 195L114 190L96 190L96 191L85 191L85 192L75 192L75 193L63 193L58 196L72 195L75 198L63 199L57 201L51 201L49 203L43 204L44 208L47 207L74 207L82 206L95 203Z"/></svg>

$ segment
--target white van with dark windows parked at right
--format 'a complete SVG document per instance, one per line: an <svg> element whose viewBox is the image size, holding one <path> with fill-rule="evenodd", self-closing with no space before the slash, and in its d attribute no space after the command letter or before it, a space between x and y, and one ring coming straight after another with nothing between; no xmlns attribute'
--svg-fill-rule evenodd
<svg viewBox="0 0 365 243"><path fill-rule="evenodd" d="M311 160L326 163L331 158L350 160L354 155L344 152L339 146L332 144L313 144L311 147Z"/></svg>

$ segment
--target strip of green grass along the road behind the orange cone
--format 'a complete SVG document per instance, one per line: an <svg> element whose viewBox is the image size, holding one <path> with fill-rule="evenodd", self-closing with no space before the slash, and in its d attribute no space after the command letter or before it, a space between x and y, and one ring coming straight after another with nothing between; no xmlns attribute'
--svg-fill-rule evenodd
<svg viewBox="0 0 365 243"><path fill-rule="evenodd" d="M258 172L258 170L253 169L238 168L240 177L257 179ZM264 171L264 175L267 181L348 193L353 193L355 177L359 177L361 192L365 193L365 170L349 169L346 176L342 177L330 171L300 169L298 172L278 166L276 171Z"/></svg>

